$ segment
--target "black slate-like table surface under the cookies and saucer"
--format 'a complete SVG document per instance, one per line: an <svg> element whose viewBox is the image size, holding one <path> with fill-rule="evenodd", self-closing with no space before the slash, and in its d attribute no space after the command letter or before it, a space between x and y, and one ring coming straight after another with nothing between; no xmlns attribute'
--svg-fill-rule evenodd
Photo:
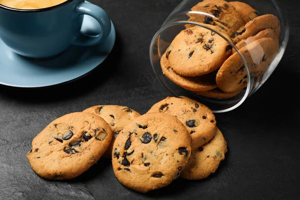
<svg viewBox="0 0 300 200"><path fill-rule="evenodd" d="M148 54L152 36L180 0L90 1L107 11L117 32L100 67L65 85L0 87L0 199L300 199L300 13L293 0L281 0L290 37L278 67L241 106L215 114L228 152L214 174L179 178L146 194L122 186L111 161L102 158L71 180L36 175L25 155L32 138L53 119L96 104L145 113L171 95L157 80Z"/></svg>

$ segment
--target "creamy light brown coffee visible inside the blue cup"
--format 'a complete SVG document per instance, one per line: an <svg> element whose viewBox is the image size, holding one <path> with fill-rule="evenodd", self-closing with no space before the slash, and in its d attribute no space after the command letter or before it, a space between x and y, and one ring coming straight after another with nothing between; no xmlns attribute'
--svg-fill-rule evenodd
<svg viewBox="0 0 300 200"><path fill-rule="evenodd" d="M41 9L58 5L67 0L0 0L0 4L15 9Z"/></svg>

